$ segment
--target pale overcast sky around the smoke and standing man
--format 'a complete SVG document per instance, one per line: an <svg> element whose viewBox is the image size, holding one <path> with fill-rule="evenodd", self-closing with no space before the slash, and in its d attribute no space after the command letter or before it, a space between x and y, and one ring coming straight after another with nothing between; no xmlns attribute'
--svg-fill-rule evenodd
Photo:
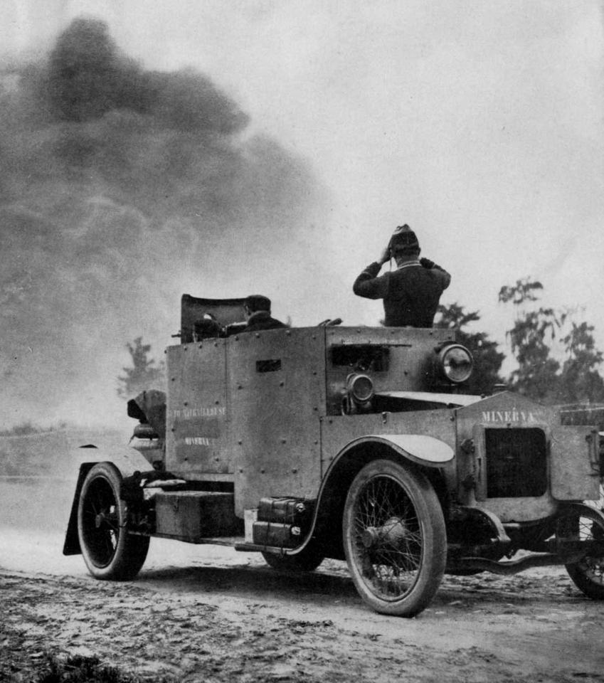
<svg viewBox="0 0 604 683"><path fill-rule="evenodd" d="M253 263L235 264L272 297L277 316L375 324L380 303L354 297L352 282L393 229L409 223L423 255L452 274L442 302L479 310L495 339L503 342L512 323L497 292L531 276L546 304L585 307L604 348L600 3L1 6L6 56L43 53L75 16L104 18L117 45L146 68L207 73L248 112L251 129L307 160L328 198L316 259L329 277L305 292L304 273L315 271L295 250L257 275ZM235 291L221 263L205 280L183 277L184 291L199 296L248 293Z"/></svg>

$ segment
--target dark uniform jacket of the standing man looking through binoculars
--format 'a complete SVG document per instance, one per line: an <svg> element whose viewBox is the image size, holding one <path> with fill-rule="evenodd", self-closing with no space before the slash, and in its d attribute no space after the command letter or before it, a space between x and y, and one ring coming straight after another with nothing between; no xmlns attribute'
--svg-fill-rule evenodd
<svg viewBox="0 0 604 683"><path fill-rule="evenodd" d="M440 265L419 260L378 277L381 265L371 263L356 278L353 291L359 297L383 299L387 327L432 327L440 295L451 281Z"/></svg>

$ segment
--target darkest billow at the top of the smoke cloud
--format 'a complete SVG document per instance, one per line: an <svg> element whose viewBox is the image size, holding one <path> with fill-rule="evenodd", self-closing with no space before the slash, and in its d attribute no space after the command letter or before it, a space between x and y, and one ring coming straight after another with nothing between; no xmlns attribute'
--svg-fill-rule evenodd
<svg viewBox="0 0 604 683"><path fill-rule="evenodd" d="M160 127L222 134L248 123L205 75L145 71L121 55L105 23L93 19L76 19L58 38L38 91L53 120L82 122L129 110Z"/></svg>

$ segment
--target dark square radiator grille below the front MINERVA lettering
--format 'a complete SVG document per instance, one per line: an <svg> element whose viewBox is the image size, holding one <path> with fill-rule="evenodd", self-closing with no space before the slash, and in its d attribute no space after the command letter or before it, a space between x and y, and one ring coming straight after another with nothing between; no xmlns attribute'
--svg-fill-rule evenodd
<svg viewBox="0 0 604 683"><path fill-rule="evenodd" d="M547 490L547 448L539 428L485 429L487 497L539 497Z"/></svg>

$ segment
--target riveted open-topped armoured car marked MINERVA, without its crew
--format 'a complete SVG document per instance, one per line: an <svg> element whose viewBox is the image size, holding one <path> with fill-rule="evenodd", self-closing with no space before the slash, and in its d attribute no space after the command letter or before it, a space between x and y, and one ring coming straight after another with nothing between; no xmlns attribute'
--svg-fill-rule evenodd
<svg viewBox="0 0 604 683"><path fill-rule="evenodd" d="M464 393L450 329L243 332L242 305L184 295L166 390L129 401L124 452L85 452L64 553L92 576L134 578L159 536L284 572L345 559L391 615L420 613L445 572L563 565L604 598L598 428Z"/></svg>

